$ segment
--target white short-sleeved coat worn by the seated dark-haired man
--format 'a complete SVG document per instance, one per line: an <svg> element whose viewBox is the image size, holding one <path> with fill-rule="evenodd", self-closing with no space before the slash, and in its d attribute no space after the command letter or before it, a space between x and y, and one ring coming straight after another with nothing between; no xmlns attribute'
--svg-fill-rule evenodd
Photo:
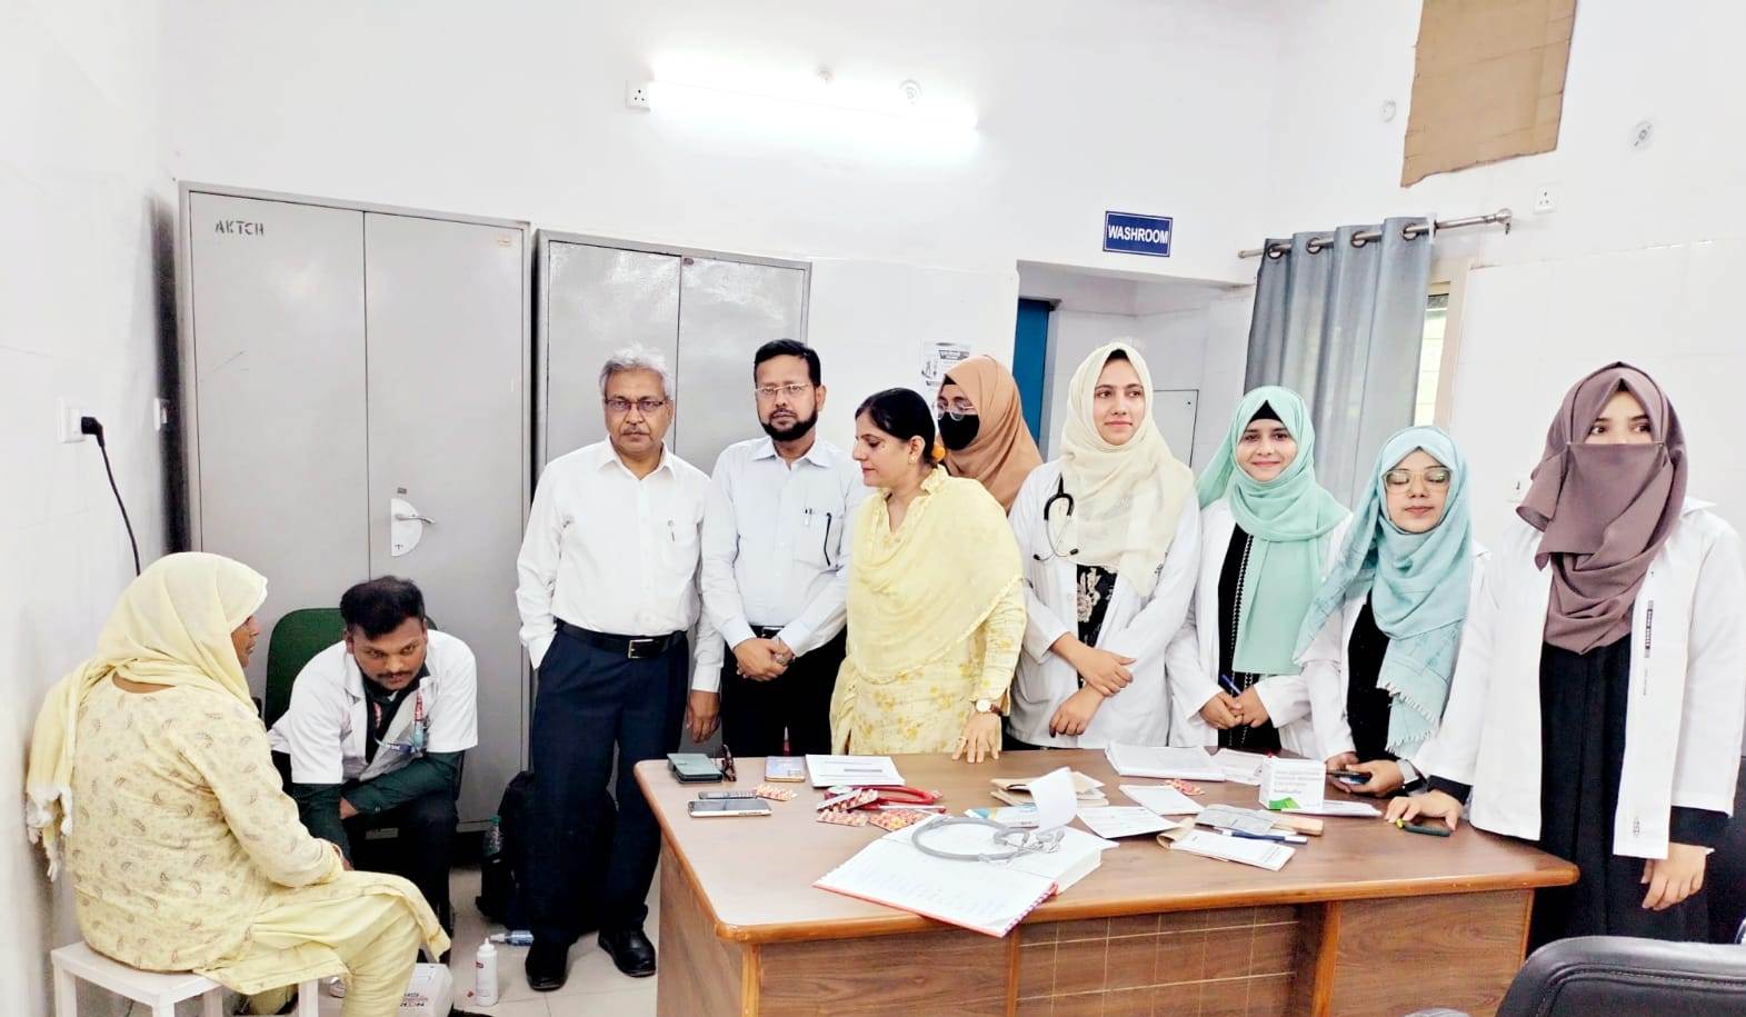
<svg viewBox="0 0 1746 1017"><path fill-rule="evenodd" d="M363 701L363 671L346 643L333 643L304 664L292 685L292 706L274 722L267 741L274 751L292 757L292 779L299 785L370 781L398 771L414 755L389 746L412 744L414 723L424 727L424 751L466 751L478 744L478 664L473 650L431 629L424 669L428 675L419 678L417 692L400 704L389 722L375 760L365 758L370 708Z"/></svg>

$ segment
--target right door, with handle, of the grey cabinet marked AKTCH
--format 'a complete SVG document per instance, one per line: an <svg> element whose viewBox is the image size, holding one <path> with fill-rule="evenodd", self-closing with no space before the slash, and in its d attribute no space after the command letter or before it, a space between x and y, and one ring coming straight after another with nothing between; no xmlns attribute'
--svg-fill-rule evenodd
<svg viewBox="0 0 1746 1017"><path fill-rule="evenodd" d="M368 213L365 239L370 575L419 584L436 626L478 661L478 748L459 809L463 823L491 820L522 769L527 715L515 613L529 470L526 236ZM431 519L402 521L398 547L396 508Z"/></svg>

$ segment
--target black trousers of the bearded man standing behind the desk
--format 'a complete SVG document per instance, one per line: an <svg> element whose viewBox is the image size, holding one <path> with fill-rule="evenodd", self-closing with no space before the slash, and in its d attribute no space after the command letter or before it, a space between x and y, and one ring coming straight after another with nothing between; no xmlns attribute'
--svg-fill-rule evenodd
<svg viewBox="0 0 1746 1017"><path fill-rule="evenodd" d="M721 741L733 755L826 755L831 751L831 692L847 654L847 633L801 654L780 678L742 678L726 648L721 662ZM782 751L782 736L787 751Z"/></svg>

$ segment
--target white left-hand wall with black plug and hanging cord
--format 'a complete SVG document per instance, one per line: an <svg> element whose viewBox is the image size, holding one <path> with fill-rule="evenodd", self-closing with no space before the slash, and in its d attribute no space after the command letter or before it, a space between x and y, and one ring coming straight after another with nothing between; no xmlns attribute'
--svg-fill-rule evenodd
<svg viewBox="0 0 1746 1017"><path fill-rule="evenodd" d="M58 444L56 397L105 423L140 552L162 552L157 393L169 173L157 124L162 9L0 3L0 944L7 1014L47 1014L47 951L79 937L65 881L28 846L24 744L42 692L89 655L133 578L93 442ZM94 996L80 1014L112 1012Z"/></svg>

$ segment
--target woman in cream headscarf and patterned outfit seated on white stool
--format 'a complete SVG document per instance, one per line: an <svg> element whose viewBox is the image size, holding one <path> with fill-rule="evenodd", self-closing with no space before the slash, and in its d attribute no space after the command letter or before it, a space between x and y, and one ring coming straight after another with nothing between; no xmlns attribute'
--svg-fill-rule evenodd
<svg viewBox="0 0 1746 1017"><path fill-rule="evenodd" d="M243 664L267 580L215 554L155 561L98 650L49 690L26 818L79 930L110 958L239 993L349 979L346 1017L400 1008L449 940L405 879L346 872L279 790Z"/></svg>

